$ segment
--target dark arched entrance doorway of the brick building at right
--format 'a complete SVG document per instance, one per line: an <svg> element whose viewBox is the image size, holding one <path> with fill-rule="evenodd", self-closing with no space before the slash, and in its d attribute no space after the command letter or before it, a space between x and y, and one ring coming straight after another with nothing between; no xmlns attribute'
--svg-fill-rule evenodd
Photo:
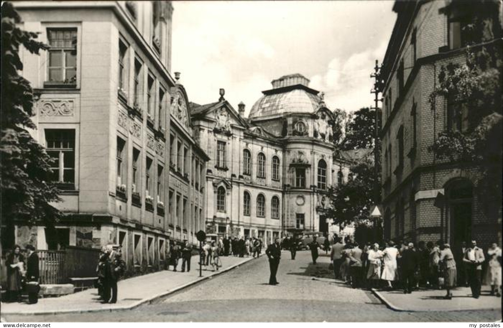
<svg viewBox="0 0 503 328"><path fill-rule="evenodd" d="M451 245L472 238L473 185L466 179L455 180L447 185L448 234ZM456 247L456 246L454 246Z"/></svg>

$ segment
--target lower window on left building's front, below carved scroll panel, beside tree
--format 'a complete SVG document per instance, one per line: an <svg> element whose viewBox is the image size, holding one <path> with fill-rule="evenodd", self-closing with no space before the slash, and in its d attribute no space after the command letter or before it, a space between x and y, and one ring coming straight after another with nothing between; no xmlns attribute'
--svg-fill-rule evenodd
<svg viewBox="0 0 503 328"><path fill-rule="evenodd" d="M52 181L64 184L75 183L75 130L46 129L47 154L54 161L51 165Z"/></svg>

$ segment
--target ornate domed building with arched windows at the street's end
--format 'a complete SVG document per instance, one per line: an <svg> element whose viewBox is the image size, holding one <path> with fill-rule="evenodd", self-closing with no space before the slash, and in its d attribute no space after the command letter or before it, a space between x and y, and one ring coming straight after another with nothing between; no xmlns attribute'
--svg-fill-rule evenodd
<svg viewBox="0 0 503 328"><path fill-rule="evenodd" d="M309 80L291 74L244 117L220 99L192 104L196 140L209 154L206 224L209 232L258 236L267 243L290 229L327 232L327 189L348 175L334 161L333 113Z"/></svg>

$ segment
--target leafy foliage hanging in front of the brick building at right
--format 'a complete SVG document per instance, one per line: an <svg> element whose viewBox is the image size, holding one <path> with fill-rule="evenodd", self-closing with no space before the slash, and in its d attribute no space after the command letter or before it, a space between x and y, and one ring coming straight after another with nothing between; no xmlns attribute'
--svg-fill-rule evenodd
<svg viewBox="0 0 503 328"><path fill-rule="evenodd" d="M499 196L503 133L501 68L501 49L498 47L482 47L478 51L468 47L465 63L449 63L441 67L439 86L430 95L432 110L436 109L438 97L462 103L468 108L469 126L464 131L451 129L440 132L429 147L439 159L479 166L483 170L481 190Z"/></svg>

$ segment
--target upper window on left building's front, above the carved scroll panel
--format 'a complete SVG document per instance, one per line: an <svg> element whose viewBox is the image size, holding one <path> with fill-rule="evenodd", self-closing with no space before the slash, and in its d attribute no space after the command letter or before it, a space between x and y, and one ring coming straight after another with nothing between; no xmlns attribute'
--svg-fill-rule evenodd
<svg viewBox="0 0 503 328"><path fill-rule="evenodd" d="M48 29L48 77L51 82L75 84L77 80L77 29Z"/></svg>

